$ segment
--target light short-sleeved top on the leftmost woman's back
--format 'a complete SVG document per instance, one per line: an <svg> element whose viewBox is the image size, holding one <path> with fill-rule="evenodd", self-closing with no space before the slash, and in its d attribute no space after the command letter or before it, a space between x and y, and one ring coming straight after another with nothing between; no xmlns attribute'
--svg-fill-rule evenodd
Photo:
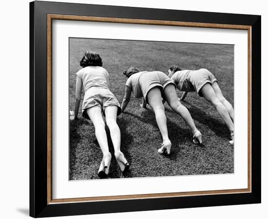
<svg viewBox="0 0 268 219"><path fill-rule="evenodd" d="M109 74L99 66L87 66L77 72L77 76L82 79L84 90L91 88L109 89Z"/></svg>

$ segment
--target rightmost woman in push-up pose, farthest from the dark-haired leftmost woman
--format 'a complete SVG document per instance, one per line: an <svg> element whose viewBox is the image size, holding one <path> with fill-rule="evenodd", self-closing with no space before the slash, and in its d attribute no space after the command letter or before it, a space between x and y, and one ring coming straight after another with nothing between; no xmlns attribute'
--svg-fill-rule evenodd
<svg viewBox="0 0 268 219"><path fill-rule="evenodd" d="M184 100L188 92L196 91L216 108L228 126L233 144L233 107L224 98L215 76L207 69L181 70L173 65L169 69L169 77L180 91L184 91L180 100Z"/></svg>

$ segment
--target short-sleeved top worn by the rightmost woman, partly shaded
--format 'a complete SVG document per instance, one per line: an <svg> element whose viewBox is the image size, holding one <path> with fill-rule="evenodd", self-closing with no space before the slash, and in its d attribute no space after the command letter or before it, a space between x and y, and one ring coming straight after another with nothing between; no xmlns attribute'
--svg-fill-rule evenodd
<svg viewBox="0 0 268 219"><path fill-rule="evenodd" d="M171 79L176 84L180 91L192 92L195 91L193 85L189 81L191 70L182 70L175 72Z"/></svg>

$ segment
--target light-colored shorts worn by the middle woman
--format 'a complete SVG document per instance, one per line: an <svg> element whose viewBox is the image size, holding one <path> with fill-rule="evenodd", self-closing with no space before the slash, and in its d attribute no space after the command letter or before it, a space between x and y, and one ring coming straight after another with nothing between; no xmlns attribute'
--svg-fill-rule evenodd
<svg viewBox="0 0 268 219"><path fill-rule="evenodd" d="M139 85L143 97L145 98L147 103L147 94L152 88L159 87L162 92L169 84L172 84L174 85L174 87L176 87L175 83L168 77L168 75L163 72L145 72L142 73L139 77Z"/></svg>

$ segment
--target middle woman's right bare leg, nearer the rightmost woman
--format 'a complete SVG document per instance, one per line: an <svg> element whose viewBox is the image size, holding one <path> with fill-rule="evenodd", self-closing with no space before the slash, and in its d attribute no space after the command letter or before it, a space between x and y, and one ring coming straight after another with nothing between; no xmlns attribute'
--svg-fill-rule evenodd
<svg viewBox="0 0 268 219"><path fill-rule="evenodd" d="M179 114L184 119L187 125L191 128L191 133L194 135L194 133L197 131L197 128L194 125L190 112L179 101L174 85L172 84L167 85L167 87L165 87L164 89L163 94L164 94L164 99L170 105L172 110L174 110L177 114Z"/></svg>

